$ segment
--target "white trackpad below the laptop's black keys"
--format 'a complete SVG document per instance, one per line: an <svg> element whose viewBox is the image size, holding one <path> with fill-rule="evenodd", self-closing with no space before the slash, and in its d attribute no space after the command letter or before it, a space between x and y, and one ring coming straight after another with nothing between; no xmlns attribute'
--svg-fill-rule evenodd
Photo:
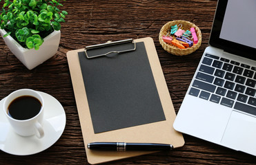
<svg viewBox="0 0 256 165"><path fill-rule="evenodd" d="M221 144L256 155L256 118L232 111Z"/></svg>

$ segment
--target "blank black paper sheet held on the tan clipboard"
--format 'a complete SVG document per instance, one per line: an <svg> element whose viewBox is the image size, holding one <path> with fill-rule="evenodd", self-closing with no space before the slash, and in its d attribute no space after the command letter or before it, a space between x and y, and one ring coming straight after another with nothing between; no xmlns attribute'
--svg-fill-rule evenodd
<svg viewBox="0 0 256 165"><path fill-rule="evenodd" d="M78 53L95 133L166 120L144 42L136 45L135 51L109 57ZM111 49L120 47L130 48Z"/></svg>

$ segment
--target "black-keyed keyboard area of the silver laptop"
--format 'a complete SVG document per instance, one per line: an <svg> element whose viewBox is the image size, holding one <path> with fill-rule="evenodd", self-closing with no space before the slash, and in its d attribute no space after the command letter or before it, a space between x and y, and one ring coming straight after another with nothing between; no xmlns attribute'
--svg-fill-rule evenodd
<svg viewBox="0 0 256 165"><path fill-rule="evenodd" d="M256 67L206 54L190 95L256 115Z"/></svg>

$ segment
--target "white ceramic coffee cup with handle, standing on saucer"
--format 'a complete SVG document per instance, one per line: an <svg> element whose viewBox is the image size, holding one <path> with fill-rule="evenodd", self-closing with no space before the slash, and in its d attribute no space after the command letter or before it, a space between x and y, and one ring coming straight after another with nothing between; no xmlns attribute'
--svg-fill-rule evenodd
<svg viewBox="0 0 256 165"><path fill-rule="evenodd" d="M37 98L37 100L41 102L41 109L39 113L37 113L37 115L26 120L17 120L12 118L8 114L8 107L11 104L11 102L21 96L32 96L34 98ZM6 117L8 118L10 125L12 126L14 131L21 136L37 135L37 137L39 138L43 137L43 107L43 97L41 96L41 94L39 94L38 91L34 91L32 89L19 89L17 91L13 91L10 95L6 97L6 99L3 102L3 111L6 114Z"/></svg>

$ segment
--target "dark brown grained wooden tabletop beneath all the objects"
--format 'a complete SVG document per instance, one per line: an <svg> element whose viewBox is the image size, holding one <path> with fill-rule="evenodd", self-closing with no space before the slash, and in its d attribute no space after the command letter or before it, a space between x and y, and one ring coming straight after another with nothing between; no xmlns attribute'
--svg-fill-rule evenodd
<svg viewBox="0 0 256 165"><path fill-rule="evenodd" d="M55 56L32 70L26 69L0 39L0 99L22 88L43 91L61 102L67 118L63 135L46 151L28 156L0 151L0 164L88 164L66 58L69 50L86 45L152 37L177 113L208 45L216 4L216 0L64 1L62 9L69 14L66 23L61 26L59 50ZM178 19L195 23L202 33L201 47L188 56L168 54L158 42L161 26ZM107 164L256 164L256 157L252 155L190 135L184 135L184 139L186 144L171 152Z"/></svg>

